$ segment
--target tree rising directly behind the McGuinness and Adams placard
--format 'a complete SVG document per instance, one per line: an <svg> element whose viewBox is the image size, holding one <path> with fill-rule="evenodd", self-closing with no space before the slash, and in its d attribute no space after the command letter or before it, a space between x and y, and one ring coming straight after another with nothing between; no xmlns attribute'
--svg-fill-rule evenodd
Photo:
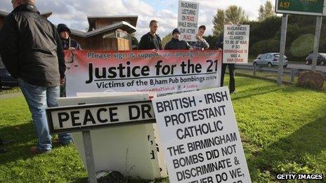
<svg viewBox="0 0 326 183"><path fill-rule="evenodd" d="M248 20L248 16L245 11L236 5L228 6L226 11L218 8L216 15L213 19L213 34L219 36L223 32L225 22L232 22L233 24L239 24Z"/></svg>

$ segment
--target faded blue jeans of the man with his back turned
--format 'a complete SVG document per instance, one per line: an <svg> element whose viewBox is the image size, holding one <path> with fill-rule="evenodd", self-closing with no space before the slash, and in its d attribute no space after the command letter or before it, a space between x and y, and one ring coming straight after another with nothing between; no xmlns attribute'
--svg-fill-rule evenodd
<svg viewBox="0 0 326 183"><path fill-rule="evenodd" d="M39 151L50 151L52 149L51 135L48 131L48 121L46 119L45 108L56 107L58 103L56 97L59 97L59 86L34 86L30 83L18 79L22 94L25 96L25 100L30 107L32 118L37 131L37 149ZM59 135L59 141L62 143L72 142L70 134Z"/></svg>

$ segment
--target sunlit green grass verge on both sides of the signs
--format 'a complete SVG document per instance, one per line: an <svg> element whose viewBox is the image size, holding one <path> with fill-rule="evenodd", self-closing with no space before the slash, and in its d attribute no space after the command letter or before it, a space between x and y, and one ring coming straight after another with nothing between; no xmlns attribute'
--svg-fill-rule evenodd
<svg viewBox="0 0 326 183"><path fill-rule="evenodd" d="M231 97L252 181L276 182L277 173L289 172L326 175L326 93L246 77L235 81ZM73 145L29 154L37 139L23 97L0 100L0 109L1 138L15 142L0 155L0 182L86 181Z"/></svg>

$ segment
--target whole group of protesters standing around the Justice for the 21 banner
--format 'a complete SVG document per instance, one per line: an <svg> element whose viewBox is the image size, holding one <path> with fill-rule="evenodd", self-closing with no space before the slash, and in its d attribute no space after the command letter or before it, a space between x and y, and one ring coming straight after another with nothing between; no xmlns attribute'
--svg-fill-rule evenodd
<svg viewBox="0 0 326 183"><path fill-rule="evenodd" d="M32 154L47 153L51 151L53 143L64 145L72 143L72 137L67 133L60 134L58 140L51 141L45 108L58 106L56 98L65 97L63 50L80 50L81 46L71 39L71 31L67 25L59 24L56 28L46 18L42 18L34 5L35 0L11 2L13 11L6 16L0 33L0 53L8 72L18 79L22 94L32 113L38 142L37 146L30 148L30 151ZM150 21L150 32L141 37L139 49L162 50L162 41L156 34L158 27L156 20ZM164 49L207 49L209 44L202 38L205 30L204 25L200 26L197 41L188 43L181 41L180 31L174 29L173 38ZM221 40L217 44L219 49L223 48L223 37ZM230 92L234 92L234 87L231 88Z"/></svg>

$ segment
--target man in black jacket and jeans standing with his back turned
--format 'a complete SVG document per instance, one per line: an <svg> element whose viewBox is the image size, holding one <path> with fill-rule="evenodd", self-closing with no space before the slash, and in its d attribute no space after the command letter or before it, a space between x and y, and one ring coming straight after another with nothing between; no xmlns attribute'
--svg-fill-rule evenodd
<svg viewBox="0 0 326 183"><path fill-rule="evenodd" d="M38 143L30 151L46 153L52 144L45 108L58 105L56 97L65 78L63 46L56 27L41 17L34 0L11 2L14 10L4 20L0 52L32 113Z"/></svg>

